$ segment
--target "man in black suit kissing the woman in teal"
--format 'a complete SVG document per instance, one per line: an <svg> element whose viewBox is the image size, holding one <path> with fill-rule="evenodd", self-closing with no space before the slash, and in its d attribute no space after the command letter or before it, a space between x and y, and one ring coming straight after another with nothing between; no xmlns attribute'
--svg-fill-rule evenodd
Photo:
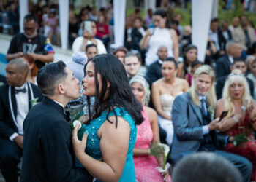
<svg viewBox="0 0 256 182"><path fill-rule="evenodd" d="M92 181L84 168L75 168L72 132L64 113L80 96L79 81L64 62L44 66L37 84L45 96L26 117L21 182Z"/></svg>

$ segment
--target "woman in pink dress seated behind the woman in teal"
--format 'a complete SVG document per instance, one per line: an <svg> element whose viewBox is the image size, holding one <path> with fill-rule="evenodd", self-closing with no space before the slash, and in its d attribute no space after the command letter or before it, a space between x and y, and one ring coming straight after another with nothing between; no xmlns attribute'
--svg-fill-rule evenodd
<svg viewBox="0 0 256 182"><path fill-rule="evenodd" d="M157 112L146 106L150 97L148 82L143 76L134 76L129 82L135 97L143 104L144 122L137 126L137 139L133 149L135 177L139 182L171 181L168 172L159 173L156 167L163 168L163 159L151 156L151 143L159 143Z"/></svg>

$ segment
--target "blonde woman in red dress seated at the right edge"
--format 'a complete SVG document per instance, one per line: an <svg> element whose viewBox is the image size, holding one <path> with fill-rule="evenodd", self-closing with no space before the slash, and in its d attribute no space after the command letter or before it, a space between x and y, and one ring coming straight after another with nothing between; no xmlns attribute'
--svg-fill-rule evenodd
<svg viewBox="0 0 256 182"><path fill-rule="evenodd" d="M256 180L256 141L253 131L256 130L256 103L249 95L249 85L243 74L231 73L225 82L222 99L218 100L215 116L223 111L227 116L220 122L219 131L230 138L244 133L249 141L241 145L227 143L225 151L246 157L252 162L252 178Z"/></svg>

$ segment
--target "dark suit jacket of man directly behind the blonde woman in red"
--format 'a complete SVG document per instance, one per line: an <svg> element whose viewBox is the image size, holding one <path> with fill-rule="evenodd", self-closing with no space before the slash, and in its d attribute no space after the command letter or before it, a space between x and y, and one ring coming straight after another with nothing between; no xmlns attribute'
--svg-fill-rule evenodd
<svg viewBox="0 0 256 182"><path fill-rule="evenodd" d="M227 76L222 76L221 78L217 79L217 84L216 84L215 90L216 90L216 96L217 96L218 100L222 98L222 91L223 91L223 88L224 88L224 85L226 82L226 78L227 78ZM247 83L249 84L250 94L253 97L253 92L254 92L255 86L251 79L246 78L246 80L247 80Z"/></svg>

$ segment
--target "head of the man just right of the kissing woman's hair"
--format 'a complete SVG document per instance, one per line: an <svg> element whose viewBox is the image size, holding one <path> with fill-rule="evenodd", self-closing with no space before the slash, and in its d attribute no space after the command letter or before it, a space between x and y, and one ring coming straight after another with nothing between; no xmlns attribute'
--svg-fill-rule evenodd
<svg viewBox="0 0 256 182"><path fill-rule="evenodd" d="M127 71L128 79L138 74L140 70L141 60L137 54L128 52L124 58L124 68Z"/></svg>

